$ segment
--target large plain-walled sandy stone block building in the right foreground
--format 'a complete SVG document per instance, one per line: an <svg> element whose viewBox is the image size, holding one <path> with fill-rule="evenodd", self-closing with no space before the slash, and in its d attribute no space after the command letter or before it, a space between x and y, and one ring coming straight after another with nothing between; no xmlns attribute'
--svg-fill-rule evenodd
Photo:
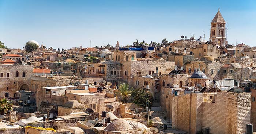
<svg viewBox="0 0 256 134"><path fill-rule="evenodd" d="M251 93L189 93L173 96L172 128L190 134L243 134L250 123Z"/></svg>

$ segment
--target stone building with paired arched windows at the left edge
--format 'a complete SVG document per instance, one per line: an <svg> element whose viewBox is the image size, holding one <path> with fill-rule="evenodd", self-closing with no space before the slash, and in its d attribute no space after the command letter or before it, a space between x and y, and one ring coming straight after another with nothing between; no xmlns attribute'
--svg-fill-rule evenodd
<svg viewBox="0 0 256 134"><path fill-rule="evenodd" d="M32 65L5 65L0 64L0 96L10 93L10 97L16 96L16 91L31 89L30 79L33 75Z"/></svg>

